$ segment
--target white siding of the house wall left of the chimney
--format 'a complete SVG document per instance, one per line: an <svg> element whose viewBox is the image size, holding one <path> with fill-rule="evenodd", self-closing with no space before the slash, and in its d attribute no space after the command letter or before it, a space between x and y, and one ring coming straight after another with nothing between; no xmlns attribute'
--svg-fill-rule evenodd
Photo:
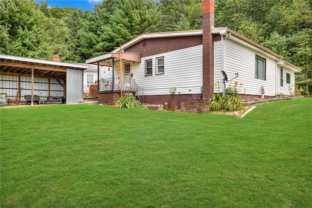
<svg viewBox="0 0 312 208"><path fill-rule="evenodd" d="M156 58L158 57L164 57L164 73L156 75ZM137 85L144 86L144 95L171 95L172 93L169 92L171 87L176 88L176 93L200 94L202 86L201 57L202 45L198 45L143 57L141 62L136 63L122 60L122 67L125 68L125 64L130 64L130 74L133 74L132 78ZM152 76L145 76L145 60L152 60ZM108 71L108 68L112 67L101 67L101 78L112 77L112 70ZM115 77L120 77L119 61L115 64ZM122 78L126 83L128 82L124 73Z"/></svg>

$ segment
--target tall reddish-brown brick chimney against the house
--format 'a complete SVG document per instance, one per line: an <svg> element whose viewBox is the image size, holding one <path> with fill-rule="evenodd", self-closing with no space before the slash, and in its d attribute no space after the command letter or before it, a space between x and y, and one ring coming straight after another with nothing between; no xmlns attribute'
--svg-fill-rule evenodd
<svg viewBox="0 0 312 208"><path fill-rule="evenodd" d="M215 0L203 0L203 98L214 94L214 36Z"/></svg>

